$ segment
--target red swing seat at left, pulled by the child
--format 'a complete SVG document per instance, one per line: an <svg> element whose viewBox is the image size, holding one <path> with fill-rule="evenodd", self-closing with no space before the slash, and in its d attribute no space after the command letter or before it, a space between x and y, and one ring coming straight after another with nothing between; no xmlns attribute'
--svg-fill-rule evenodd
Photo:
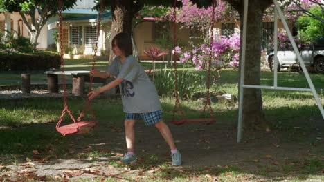
<svg viewBox="0 0 324 182"><path fill-rule="evenodd" d="M63 136L67 134L82 134L89 132L98 124L97 121L80 121L71 123L69 125L57 126L57 132L60 132Z"/></svg>

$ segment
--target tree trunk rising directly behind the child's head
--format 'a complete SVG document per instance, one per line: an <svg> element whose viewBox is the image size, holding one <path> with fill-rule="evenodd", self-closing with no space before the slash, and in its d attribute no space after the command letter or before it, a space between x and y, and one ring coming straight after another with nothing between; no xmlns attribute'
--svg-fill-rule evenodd
<svg viewBox="0 0 324 182"><path fill-rule="evenodd" d="M111 2L111 10L113 12L113 21L111 23L111 37L109 41L110 45L115 35L120 32L127 33L129 34L129 36L131 36L132 19L134 17L134 14L132 12L132 1L114 0L113 2ZM109 62L111 62L114 58L114 53L112 52L111 48L109 53Z"/></svg>

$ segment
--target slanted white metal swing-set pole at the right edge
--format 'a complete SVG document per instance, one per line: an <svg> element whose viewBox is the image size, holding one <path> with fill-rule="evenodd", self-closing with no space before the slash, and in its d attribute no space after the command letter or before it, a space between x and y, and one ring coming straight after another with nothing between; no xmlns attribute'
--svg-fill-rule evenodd
<svg viewBox="0 0 324 182"><path fill-rule="evenodd" d="M323 109L323 105L322 105L322 103L321 103L321 100L320 100L319 97L318 97L318 94L317 94L315 88L314 88L314 85L313 85L312 79L309 77L309 74L308 74L307 69L306 69L305 64L304 64L304 61L303 61L303 59L301 58L301 56L300 56L300 54L299 54L299 51L298 51L297 45L296 45L296 43L295 43L295 41L294 41L294 38L293 38L293 36L292 36L292 34L291 34L290 30L289 30L289 26L288 26L288 24L287 24L287 22L286 22L286 20L285 20L284 15L282 14L282 12L281 12L281 10L280 10L280 7L279 7L279 4L278 4L277 0L273 0L273 3L275 4L276 9L278 10L278 13L279 13L280 19L281 19L281 21L282 21L282 24L283 24L283 26L285 27L285 30L286 30L286 32L287 32L287 34L288 34L288 37L289 37L290 43L291 43L291 45L292 45L293 48L294 48L294 51L295 51L296 57L297 57L297 59L298 59L298 61L299 61L299 63L300 63L300 66L301 66L301 68L302 68L302 70L303 70L303 72L304 72L304 74L305 74L305 77L306 77L306 79L307 79L307 82L308 82L308 84L309 84L309 88L310 88L310 89L312 90L312 92L313 92L314 98L315 98L315 100L316 100L316 104L318 105L318 108L319 108L319 110L321 111L322 117L323 117L323 119L324 119L324 109Z"/></svg>

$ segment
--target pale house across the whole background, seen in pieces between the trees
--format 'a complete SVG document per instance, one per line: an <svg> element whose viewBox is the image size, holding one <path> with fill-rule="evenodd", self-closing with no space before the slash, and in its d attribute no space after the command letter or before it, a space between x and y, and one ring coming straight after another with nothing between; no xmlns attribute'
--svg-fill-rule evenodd
<svg viewBox="0 0 324 182"><path fill-rule="evenodd" d="M93 54L93 48L96 43L96 23L98 14L96 10L92 10L95 5L96 3L92 0L78 0L73 8L62 12L63 44L66 54ZM47 25L42 28L42 32L38 39L38 49L57 49L55 39L57 41L57 32L59 31L58 20L58 15L51 17L51 19L48 20ZM289 26L292 28L293 24L290 23ZM180 45L188 45L189 37L199 37L199 31L192 31L180 27L181 26L178 24L176 31L176 37ZM271 48L271 41L274 32L273 28L273 21L264 21L262 50L269 50ZM20 34L21 36L29 37L27 28L24 26L24 23L17 12L12 14L8 12L0 14L0 30L10 30L13 34ZM100 36L98 37L98 55L106 55L109 53L110 45L107 40L110 30L111 13L106 12L102 14L102 28L100 30ZM278 22L278 30L283 30L280 21ZM170 36L172 26L166 26L166 23L161 23L161 21L144 21L138 23L138 25L134 27L133 37L140 59L150 59L144 51L152 46L159 46L160 48L163 48L165 52L170 52L170 50L166 48L166 45L161 46L155 43L158 39L166 38L165 32L169 33ZM220 35L228 36L234 32L238 33L240 32L240 22L232 21L215 23L214 32L215 37ZM169 43L165 44L172 45L170 40ZM169 57L162 57L161 59L170 59L170 55Z"/></svg>

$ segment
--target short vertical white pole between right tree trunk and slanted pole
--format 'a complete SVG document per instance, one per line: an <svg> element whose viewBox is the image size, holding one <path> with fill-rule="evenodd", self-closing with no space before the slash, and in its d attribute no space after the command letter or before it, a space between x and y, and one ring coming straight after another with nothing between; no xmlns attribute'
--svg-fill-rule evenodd
<svg viewBox="0 0 324 182"><path fill-rule="evenodd" d="M278 12L275 8L275 14L274 14L274 33L273 33L273 40L274 40L274 55L273 55L273 86L277 87L278 85Z"/></svg>

